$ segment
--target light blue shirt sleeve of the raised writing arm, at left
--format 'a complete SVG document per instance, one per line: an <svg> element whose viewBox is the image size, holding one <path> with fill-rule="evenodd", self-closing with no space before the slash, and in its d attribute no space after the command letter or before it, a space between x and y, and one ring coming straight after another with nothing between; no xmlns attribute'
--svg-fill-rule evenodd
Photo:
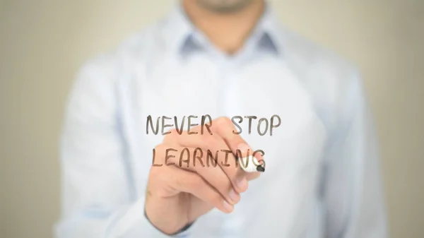
<svg viewBox="0 0 424 238"><path fill-rule="evenodd" d="M113 61L105 56L83 66L69 97L61 135L62 214L56 237L187 237L189 230L169 236L151 225L143 192L131 186Z"/></svg>

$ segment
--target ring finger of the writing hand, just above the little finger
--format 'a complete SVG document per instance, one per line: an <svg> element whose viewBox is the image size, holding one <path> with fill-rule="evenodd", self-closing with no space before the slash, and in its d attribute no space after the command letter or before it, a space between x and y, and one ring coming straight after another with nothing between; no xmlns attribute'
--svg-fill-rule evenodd
<svg viewBox="0 0 424 238"><path fill-rule="evenodd" d="M223 169L218 166L218 161L214 165L207 166L210 158L207 150L200 148L187 148L174 146L173 150L177 151L171 156L168 154L163 161L167 166L175 166L190 172L199 174L208 184L213 186L230 204L235 204L240 201L240 192L234 189L232 182ZM156 150L167 150L166 145L159 145ZM218 155L219 156L219 155Z"/></svg>

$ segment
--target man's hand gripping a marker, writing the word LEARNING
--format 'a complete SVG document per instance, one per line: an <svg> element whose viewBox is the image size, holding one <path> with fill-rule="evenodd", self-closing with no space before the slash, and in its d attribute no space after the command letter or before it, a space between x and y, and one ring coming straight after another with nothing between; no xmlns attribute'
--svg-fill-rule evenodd
<svg viewBox="0 0 424 238"><path fill-rule="evenodd" d="M235 166L236 150L244 156L247 150L252 153L247 143L240 135L232 133L235 130L232 121L220 117L212 121L211 132L201 134L200 126L193 129L196 134L177 131L165 136L162 144L155 148L155 161L163 164L161 167L151 167L146 191L146 215L155 227L173 234L182 227L193 222L212 208L218 208L224 213L231 213L234 205L240 201L240 193L247 190L248 181L259 177L259 172L246 173L240 166ZM192 131L192 130L190 130ZM193 166L190 163L179 167L179 157L168 157L165 165L165 150L173 148L182 151L189 150L189 155L200 157L206 163L207 150L215 157L219 151L216 167ZM199 149L196 149L199 148ZM199 151L201 150L201 151ZM228 161L225 153L230 150ZM261 155L256 155L262 160ZM224 166L227 164L227 166ZM230 164L230 166L228 166Z"/></svg>

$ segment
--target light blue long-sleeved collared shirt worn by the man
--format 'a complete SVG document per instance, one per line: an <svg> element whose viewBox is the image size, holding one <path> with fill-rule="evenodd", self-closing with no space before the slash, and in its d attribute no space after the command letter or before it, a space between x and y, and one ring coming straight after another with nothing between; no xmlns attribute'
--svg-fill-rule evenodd
<svg viewBox="0 0 424 238"><path fill-rule="evenodd" d="M61 138L57 237L167 237L143 215L152 149L146 118L257 116L247 143L266 172L231 214L179 237L387 237L377 143L358 72L283 26L269 9L227 56L181 8L82 67ZM273 135L255 133L273 114ZM199 121L198 121L199 122Z"/></svg>

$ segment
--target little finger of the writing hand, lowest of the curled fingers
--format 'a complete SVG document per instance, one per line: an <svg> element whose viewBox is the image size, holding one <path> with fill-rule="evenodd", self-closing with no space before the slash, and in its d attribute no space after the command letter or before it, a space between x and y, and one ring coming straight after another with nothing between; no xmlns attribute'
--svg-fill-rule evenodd
<svg viewBox="0 0 424 238"><path fill-rule="evenodd" d="M169 184L177 189L189 194L193 194L202 201L206 201L223 211L224 213L231 213L234 206L226 201L221 194L216 191L210 184L205 182L199 174L189 172L177 167L169 167L170 181Z"/></svg>

